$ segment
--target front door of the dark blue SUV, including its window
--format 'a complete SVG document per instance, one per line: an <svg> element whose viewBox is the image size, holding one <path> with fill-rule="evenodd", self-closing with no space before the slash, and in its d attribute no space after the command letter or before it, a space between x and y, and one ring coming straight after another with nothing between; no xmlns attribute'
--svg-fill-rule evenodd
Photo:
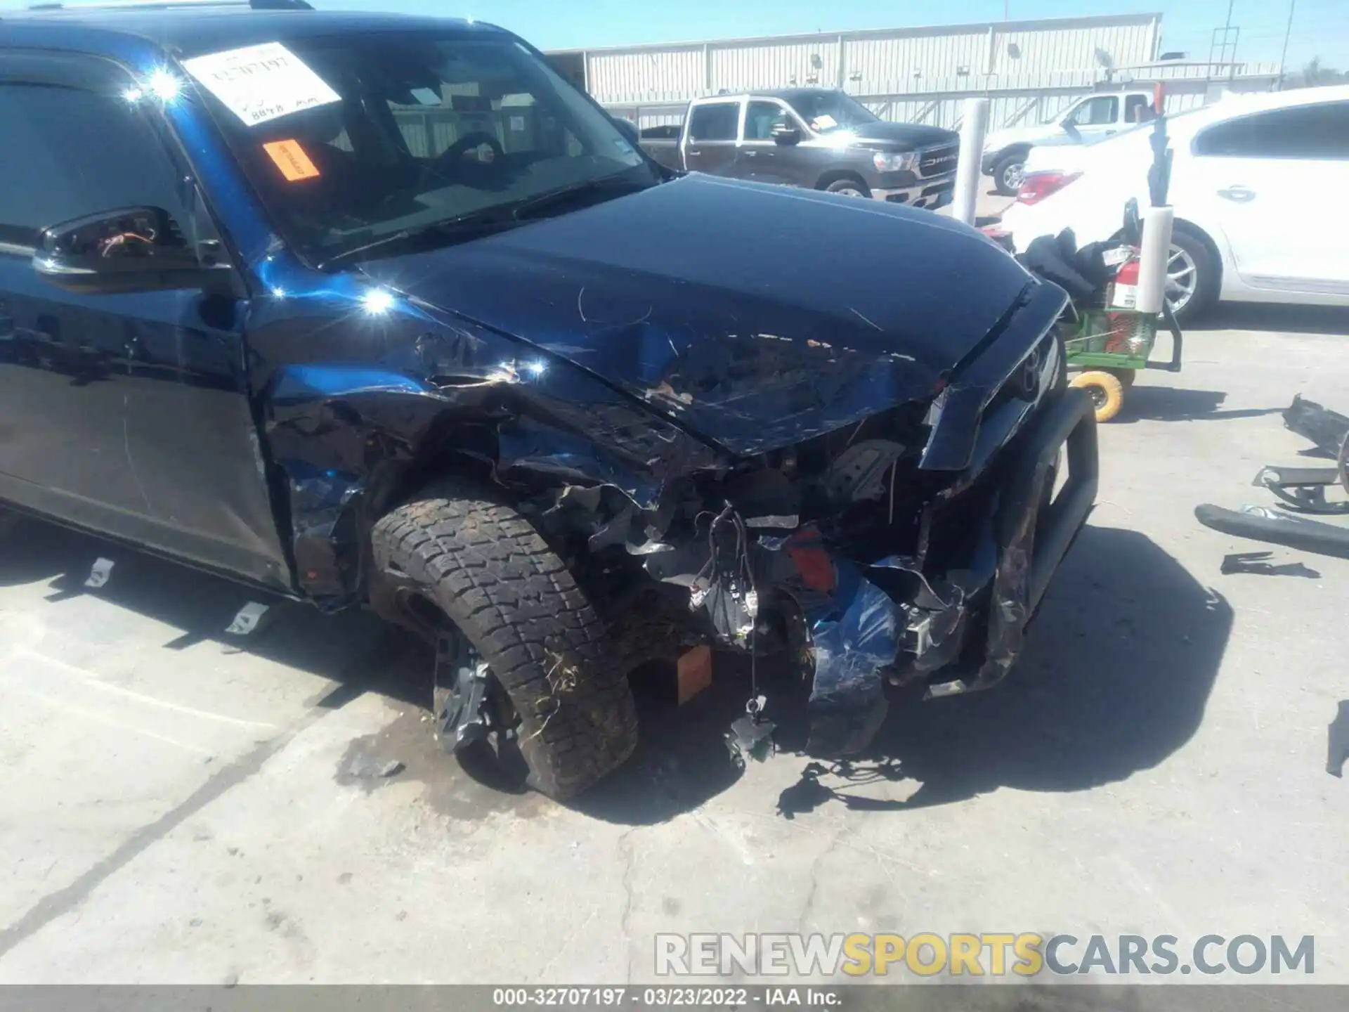
<svg viewBox="0 0 1349 1012"><path fill-rule="evenodd" d="M0 499L289 586L260 476L243 305L200 290L73 293L40 229L132 206L219 247L156 100L111 63L0 53ZM221 251L223 255L223 251Z"/></svg>

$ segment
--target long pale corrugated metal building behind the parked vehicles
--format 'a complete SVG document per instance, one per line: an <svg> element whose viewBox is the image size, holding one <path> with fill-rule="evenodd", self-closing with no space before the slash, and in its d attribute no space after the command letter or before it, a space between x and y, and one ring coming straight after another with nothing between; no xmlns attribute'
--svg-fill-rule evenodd
<svg viewBox="0 0 1349 1012"><path fill-rule="evenodd" d="M615 113L642 127L676 123L691 99L820 85L857 96L884 119L956 125L960 100L993 99L990 125L1047 119L1102 84L1183 78L1172 101L1202 101L1207 82L1267 90L1278 69L1156 65L1160 13L925 28L780 35L549 55ZM1193 94L1191 94L1193 93Z"/></svg>

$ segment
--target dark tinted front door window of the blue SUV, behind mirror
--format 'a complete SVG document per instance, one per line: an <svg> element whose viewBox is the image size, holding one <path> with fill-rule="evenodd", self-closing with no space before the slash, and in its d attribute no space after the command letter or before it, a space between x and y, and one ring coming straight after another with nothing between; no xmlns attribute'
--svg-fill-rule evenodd
<svg viewBox="0 0 1349 1012"><path fill-rule="evenodd" d="M31 248L43 228L130 206L178 221L179 174L144 115L120 96L0 85L0 243Z"/></svg>

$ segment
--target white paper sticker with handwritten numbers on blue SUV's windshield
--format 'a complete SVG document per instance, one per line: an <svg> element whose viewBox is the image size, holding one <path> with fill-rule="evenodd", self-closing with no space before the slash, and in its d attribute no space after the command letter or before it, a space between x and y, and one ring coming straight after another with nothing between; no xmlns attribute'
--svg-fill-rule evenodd
<svg viewBox="0 0 1349 1012"><path fill-rule="evenodd" d="M341 101L337 92L279 42L194 57L182 65L250 127Z"/></svg>

